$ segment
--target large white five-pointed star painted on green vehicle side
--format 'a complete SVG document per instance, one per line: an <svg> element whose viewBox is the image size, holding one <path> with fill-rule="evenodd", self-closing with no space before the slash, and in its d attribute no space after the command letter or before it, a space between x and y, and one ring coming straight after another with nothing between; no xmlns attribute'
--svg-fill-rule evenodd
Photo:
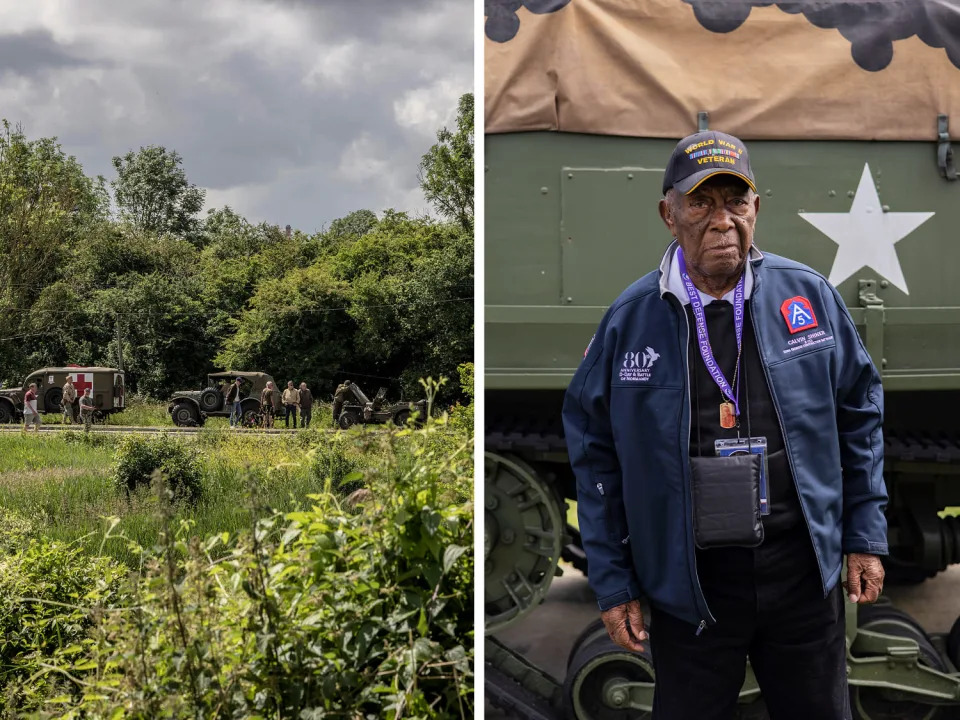
<svg viewBox="0 0 960 720"><path fill-rule="evenodd" d="M866 266L909 294L893 246L932 218L934 213L883 212L869 165L863 166L850 212L797 214L840 246L830 270L832 285L839 285Z"/></svg>

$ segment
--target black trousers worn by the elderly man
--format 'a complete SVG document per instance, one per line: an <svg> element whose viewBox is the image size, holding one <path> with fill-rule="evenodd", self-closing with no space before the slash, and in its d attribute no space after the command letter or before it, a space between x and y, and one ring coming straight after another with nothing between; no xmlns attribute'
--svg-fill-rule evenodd
<svg viewBox="0 0 960 720"><path fill-rule="evenodd" d="M733 720L748 656L771 720L850 719L842 587L823 597L809 540L761 548L698 552L699 637L652 608L654 720Z"/></svg>

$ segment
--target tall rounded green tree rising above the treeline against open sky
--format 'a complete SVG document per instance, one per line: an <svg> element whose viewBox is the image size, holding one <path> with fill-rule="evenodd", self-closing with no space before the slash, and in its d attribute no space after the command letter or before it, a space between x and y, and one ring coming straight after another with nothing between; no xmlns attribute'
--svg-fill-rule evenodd
<svg viewBox="0 0 960 720"><path fill-rule="evenodd" d="M120 215L140 230L169 232L198 241L197 213L204 191L187 181L183 159L160 145L141 147L113 158L111 183Z"/></svg>

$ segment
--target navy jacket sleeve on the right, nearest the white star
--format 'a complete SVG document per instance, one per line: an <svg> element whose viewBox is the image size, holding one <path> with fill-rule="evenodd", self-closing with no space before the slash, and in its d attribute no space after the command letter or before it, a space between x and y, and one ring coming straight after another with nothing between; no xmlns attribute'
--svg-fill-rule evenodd
<svg viewBox="0 0 960 720"><path fill-rule="evenodd" d="M886 555L883 387L840 294L832 286L837 343L837 432L843 471L843 552ZM831 302L832 301L832 302Z"/></svg>

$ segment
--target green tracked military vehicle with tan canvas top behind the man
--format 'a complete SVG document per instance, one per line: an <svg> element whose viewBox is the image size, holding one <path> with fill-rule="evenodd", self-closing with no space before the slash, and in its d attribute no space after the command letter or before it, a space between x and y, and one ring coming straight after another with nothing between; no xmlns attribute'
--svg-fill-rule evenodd
<svg viewBox="0 0 960 720"><path fill-rule="evenodd" d="M528 718L650 711L649 657L596 626L562 683L493 635L561 557L589 571L566 519L563 393L606 307L659 265L664 164L698 129L749 143L758 247L837 287L882 373L888 582L960 562L960 518L941 516L960 506L957 3L486 7L487 697ZM960 703L960 621L944 643L896 608L847 617L859 717ZM748 678L743 714L765 717Z"/></svg>

